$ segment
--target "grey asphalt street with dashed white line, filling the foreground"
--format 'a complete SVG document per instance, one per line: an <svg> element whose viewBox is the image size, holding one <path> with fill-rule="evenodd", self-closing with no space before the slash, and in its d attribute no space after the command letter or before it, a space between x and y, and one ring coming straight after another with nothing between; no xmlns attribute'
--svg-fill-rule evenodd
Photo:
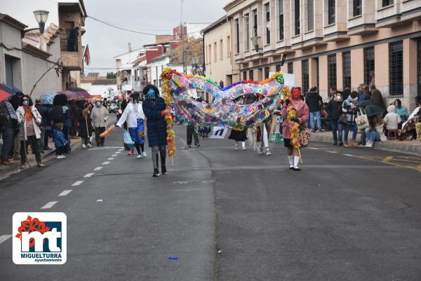
<svg viewBox="0 0 421 281"><path fill-rule="evenodd" d="M295 172L279 144L187 149L176 131L159 178L117 131L0 181L0 280L421 280L421 158L312 143ZM13 263L15 212L67 214L64 265Z"/></svg>

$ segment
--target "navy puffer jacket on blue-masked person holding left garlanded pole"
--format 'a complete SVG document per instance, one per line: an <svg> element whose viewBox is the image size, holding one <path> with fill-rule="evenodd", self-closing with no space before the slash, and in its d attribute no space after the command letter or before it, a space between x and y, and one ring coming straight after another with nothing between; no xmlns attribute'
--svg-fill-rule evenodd
<svg viewBox="0 0 421 281"><path fill-rule="evenodd" d="M147 142L149 147L166 145L166 122L161 111L165 110L165 102L162 97L155 100L145 100L142 103L147 128Z"/></svg>

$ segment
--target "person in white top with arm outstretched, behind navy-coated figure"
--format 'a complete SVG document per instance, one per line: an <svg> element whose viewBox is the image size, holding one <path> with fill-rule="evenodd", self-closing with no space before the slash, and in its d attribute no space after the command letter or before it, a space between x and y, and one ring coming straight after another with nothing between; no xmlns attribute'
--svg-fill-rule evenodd
<svg viewBox="0 0 421 281"><path fill-rule="evenodd" d="M142 102L140 101L140 95L138 92L134 92L131 95L131 102L127 104L123 114L116 123L117 126L121 127L124 122L127 122L128 132L130 137L135 143L136 151L138 151L138 158L146 157L145 152L145 114L142 109ZM128 155L132 155L134 149L128 152Z"/></svg>

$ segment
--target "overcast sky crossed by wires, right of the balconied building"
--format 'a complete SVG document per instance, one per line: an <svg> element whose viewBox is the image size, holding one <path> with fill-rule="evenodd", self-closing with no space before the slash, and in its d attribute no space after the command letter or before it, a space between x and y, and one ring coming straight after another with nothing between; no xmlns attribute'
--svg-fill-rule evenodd
<svg viewBox="0 0 421 281"><path fill-rule="evenodd" d="M223 7L229 0L185 0L184 22L215 22L225 14ZM94 18L128 29L152 34L172 34L173 27L180 25L180 0L85 0L86 12ZM154 36L126 32L86 20L83 45L89 44L91 64L94 67L115 67L112 57L125 53L130 42L133 50L154 43ZM107 70L85 69L85 72L106 73ZM110 69L112 71L112 69Z"/></svg>

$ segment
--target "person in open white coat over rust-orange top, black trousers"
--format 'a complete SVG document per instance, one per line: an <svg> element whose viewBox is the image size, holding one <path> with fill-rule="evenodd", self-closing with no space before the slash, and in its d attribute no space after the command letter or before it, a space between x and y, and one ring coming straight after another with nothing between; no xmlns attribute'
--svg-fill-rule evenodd
<svg viewBox="0 0 421 281"><path fill-rule="evenodd" d="M27 163L27 144L31 144L37 166L45 167L41 160L41 147L39 146L39 139L41 139L39 124L41 124L42 118L38 109L33 105L31 98L28 95L24 95L20 102L20 107L16 110L19 123L18 139L20 140L21 169L25 169Z"/></svg>

